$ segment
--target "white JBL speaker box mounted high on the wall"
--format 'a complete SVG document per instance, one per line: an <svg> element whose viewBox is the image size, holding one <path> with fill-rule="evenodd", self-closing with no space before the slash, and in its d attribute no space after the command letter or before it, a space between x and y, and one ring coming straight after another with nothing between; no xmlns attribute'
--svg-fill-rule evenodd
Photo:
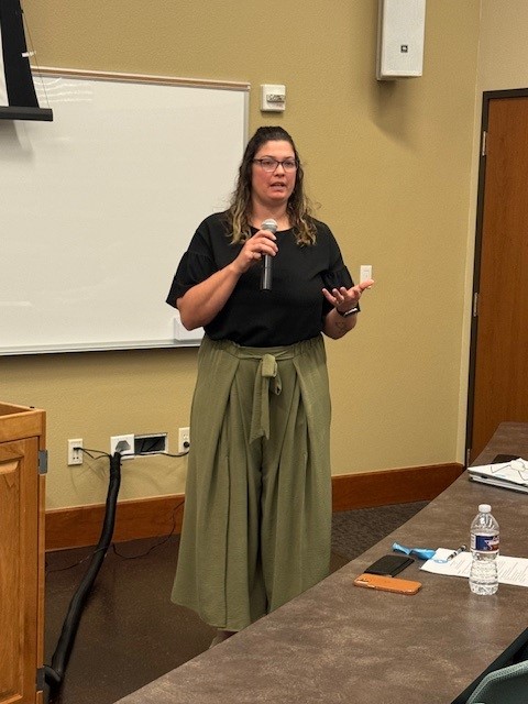
<svg viewBox="0 0 528 704"><path fill-rule="evenodd" d="M426 0L378 0L377 80L421 76Z"/></svg>

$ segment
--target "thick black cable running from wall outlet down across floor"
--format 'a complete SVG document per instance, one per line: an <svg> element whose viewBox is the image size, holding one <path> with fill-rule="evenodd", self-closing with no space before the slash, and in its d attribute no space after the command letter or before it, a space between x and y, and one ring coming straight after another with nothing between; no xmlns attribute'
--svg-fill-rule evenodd
<svg viewBox="0 0 528 704"><path fill-rule="evenodd" d="M52 657L52 664L44 666L44 681L46 685L44 695L46 697L46 702L48 701L50 695L55 694L61 689L86 600L88 598L102 561L105 560L108 549L112 542L120 484L121 454L116 452L110 457L110 481L107 492L105 520L99 542L91 556L90 564L88 565L86 574L69 603L68 613L66 614L66 618L63 624L61 637Z"/></svg>

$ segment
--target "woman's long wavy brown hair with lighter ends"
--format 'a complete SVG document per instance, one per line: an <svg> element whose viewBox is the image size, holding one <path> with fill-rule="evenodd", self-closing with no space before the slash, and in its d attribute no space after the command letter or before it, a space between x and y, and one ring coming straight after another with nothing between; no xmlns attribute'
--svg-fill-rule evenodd
<svg viewBox="0 0 528 704"><path fill-rule="evenodd" d="M295 187L286 206L286 212L288 213L297 244L309 245L316 241L312 206L305 194L305 172L302 170L302 164L300 163L294 140L288 132L280 127L261 127L248 142L242 163L239 167L239 176L231 197L231 205L226 212L230 237L233 243L244 242L251 237L252 167L255 154L266 142L278 141L285 141L292 144L298 164Z"/></svg>

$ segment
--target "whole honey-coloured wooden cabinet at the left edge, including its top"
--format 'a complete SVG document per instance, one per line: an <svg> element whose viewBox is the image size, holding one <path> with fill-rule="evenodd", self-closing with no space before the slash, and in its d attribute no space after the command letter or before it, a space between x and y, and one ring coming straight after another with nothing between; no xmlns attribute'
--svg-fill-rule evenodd
<svg viewBox="0 0 528 704"><path fill-rule="evenodd" d="M43 701L45 413L0 403L0 704Z"/></svg>

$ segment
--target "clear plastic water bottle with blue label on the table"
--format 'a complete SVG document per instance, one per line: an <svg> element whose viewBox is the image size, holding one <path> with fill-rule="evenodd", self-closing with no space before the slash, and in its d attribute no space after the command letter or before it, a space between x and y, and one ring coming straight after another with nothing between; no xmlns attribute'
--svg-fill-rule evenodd
<svg viewBox="0 0 528 704"><path fill-rule="evenodd" d="M490 504L481 504L471 524L470 588L473 594L495 594L498 588L498 524Z"/></svg>

